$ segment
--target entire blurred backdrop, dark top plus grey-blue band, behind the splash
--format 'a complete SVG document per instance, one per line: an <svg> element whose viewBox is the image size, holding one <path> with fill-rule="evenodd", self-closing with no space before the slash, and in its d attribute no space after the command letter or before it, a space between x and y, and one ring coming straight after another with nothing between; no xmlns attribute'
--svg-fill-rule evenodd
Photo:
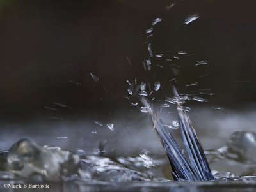
<svg viewBox="0 0 256 192"><path fill-rule="evenodd" d="M0 149L28 137L88 154L100 142L109 154L163 154L148 115L125 98L127 79L149 78L149 41L154 54L188 52L173 59L180 92L211 88L209 102L188 103L205 148L221 147L236 130L254 131L254 12L253 1L0 0ZM185 25L195 13L200 17ZM208 64L195 66L203 60ZM163 83L170 69L152 68ZM186 87L192 82L198 85ZM168 96L166 89L156 97Z"/></svg>

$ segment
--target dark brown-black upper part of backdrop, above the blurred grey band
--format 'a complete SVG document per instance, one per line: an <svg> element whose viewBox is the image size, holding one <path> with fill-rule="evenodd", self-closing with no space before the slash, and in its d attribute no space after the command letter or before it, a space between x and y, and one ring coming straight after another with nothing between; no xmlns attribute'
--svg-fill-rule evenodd
<svg viewBox="0 0 256 192"><path fill-rule="evenodd" d="M2 121L49 121L129 108L125 80L145 76L145 30L157 17L163 21L150 40L154 53L195 54L178 63L179 90L186 92L185 84L208 73L199 80L206 82L201 88L214 92L206 105L239 108L255 102L253 1L175 1L170 10L166 6L172 1L165 0L0 2ZM184 25L192 13L200 18ZM201 60L209 64L188 67ZM240 80L249 82L234 83ZM44 108L58 108L54 102L70 108Z"/></svg>

